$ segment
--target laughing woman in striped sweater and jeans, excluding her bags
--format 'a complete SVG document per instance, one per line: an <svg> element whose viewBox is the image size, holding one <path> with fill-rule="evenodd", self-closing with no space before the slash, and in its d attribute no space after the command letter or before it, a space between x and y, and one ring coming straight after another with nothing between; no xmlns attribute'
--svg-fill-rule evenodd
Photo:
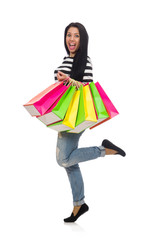
<svg viewBox="0 0 159 240"><path fill-rule="evenodd" d="M55 70L55 80L67 79L77 87L80 86L80 82L93 81L91 59L87 56L88 34L85 27L80 23L69 24L65 29L64 44L68 56L64 57L62 65ZM74 205L71 216L65 218L65 222L75 222L89 209L84 202L84 184L78 163L109 154L125 156L122 149L108 140L103 140L99 147L78 148L79 138L83 132L79 134L60 132L58 134L57 162L67 172Z"/></svg>

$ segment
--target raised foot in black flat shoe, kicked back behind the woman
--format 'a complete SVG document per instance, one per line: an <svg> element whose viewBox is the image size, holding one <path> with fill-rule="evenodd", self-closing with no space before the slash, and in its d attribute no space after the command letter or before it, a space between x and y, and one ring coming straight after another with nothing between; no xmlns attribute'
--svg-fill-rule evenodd
<svg viewBox="0 0 159 240"><path fill-rule="evenodd" d="M121 148L115 146L107 139L103 140L102 146L105 147L106 155L119 154L123 157L125 157L126 155L126 153Z"/></svg>

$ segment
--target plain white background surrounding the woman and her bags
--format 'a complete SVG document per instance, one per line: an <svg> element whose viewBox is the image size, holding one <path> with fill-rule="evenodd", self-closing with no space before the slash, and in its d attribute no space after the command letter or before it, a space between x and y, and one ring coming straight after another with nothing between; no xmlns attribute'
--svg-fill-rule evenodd
<svg viewBox="0 0 159 240"><path fill-rule="evenodd" d="M0 3L0 239L159 239L158 1ZM89 34L94 81L120 112L87 130L80 147L104 138L127 156L81 163L90 211L74 224L66 172L56 163L57 133L22 106L54 82L66 55L64 29Z"/></svg>

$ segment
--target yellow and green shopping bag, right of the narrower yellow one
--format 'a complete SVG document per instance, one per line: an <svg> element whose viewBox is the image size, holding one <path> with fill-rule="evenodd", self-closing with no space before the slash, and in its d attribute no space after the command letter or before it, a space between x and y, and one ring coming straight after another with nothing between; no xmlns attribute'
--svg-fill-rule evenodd
<svg viewBox="0 0 159 240"><path fill-rule="evenodd" d="M72 133L80 133L81 131L85 130L86 128L92 126L94 123L97 122L89 84L81 86L79 90L80 98L75 129L69 131Z"/></svg>

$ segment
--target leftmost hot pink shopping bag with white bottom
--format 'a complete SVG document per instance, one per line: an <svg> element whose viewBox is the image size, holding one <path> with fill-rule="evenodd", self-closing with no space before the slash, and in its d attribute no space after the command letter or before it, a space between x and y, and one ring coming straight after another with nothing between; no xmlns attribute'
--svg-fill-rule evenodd
<svg viewBox="0 0 159 240"><path fill-rule="evenodd" d="M43 115L65 90L63 82L54 83L23 106L31 116Z"/></svg>

